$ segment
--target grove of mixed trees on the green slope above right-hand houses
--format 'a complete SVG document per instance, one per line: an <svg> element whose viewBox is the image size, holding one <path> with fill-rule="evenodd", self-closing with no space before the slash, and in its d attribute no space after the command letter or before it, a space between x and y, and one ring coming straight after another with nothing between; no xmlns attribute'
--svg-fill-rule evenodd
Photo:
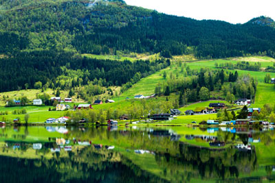
<svg viewBox="0 0 275 183"><path fill-rule="evenodd" d="M182 70L181 70L182 71ZM222 97L228 101L234 101L234 97L254 99L257 82L250 75L239 76L238 72L225 72L221 70L211 70L208 68L199 71L191 70L188 66L182 71L184 77L176 78L173 73L163 84L159 83L155 87L157 95L170 95L170 93L180 93L179 106L184 106L187 102L207 100L215 98L212 93L219 93L217 98ZM164 77L166 73L164 73Z"/></svg>

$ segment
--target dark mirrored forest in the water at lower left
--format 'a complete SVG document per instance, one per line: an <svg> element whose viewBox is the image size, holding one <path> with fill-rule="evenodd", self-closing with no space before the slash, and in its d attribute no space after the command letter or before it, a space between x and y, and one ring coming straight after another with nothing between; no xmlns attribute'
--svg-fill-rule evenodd
<svg viewBox="0 0 275 183"><path fill-rule="evenodd" d="M111 151L85 147L66 157L21 159L0 156L1 182L166 182ZM118 160L119 159L119 160Z"/></svg>

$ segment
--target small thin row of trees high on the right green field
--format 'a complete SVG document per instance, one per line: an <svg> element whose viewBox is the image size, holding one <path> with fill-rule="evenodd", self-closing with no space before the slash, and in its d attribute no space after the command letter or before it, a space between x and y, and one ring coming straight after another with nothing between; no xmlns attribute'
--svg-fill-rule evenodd
<svg viewBox="0 0 275 183"><path fill-rule="evenodd" d="M237 62L236 64L233 64L232 62L225 62L218 64L215 62L215 67L217 69L240 69L240 70L247 70L247 71L260 71L261 69L261 63L256 62L254 64L250 64L250 62Z"/></svg>

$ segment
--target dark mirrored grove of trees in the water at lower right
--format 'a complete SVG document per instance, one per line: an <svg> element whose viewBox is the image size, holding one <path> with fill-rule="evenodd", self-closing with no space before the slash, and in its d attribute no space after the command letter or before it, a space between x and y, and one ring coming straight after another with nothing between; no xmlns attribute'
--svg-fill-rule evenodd
<svg viewBox="0 0 275 183"><path fill-rule="evenodd" d="M208 149L179 144L179 156L156 154L159 166L170 173L181 172L185 181L190 178L221 179L238 178L240 173L249 174L257 167L255 151L238 151L234 147Z"/></svg>

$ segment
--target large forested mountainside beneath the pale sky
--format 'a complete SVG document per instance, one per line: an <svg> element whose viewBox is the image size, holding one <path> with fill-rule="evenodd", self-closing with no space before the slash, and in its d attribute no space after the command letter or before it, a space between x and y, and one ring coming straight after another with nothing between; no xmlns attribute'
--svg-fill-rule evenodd
<svg viewBox="0 0 275 183"><path fill-rule="evenodd" d="M275 57L274 27L250 21L196 21L107 0L0 0L0 52L193 53L224 58L264 52Z"/></svg>

